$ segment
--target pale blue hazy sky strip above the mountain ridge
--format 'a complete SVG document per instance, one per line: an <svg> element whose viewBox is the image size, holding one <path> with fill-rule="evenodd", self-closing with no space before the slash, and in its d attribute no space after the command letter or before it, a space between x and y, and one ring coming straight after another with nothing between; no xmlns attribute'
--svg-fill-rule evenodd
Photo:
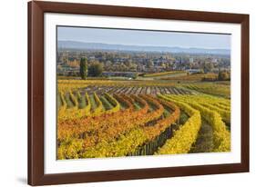
<svg viewBox="0 0 256 187"><path fill-rule="evenodd" d="M195 34L58 26L57 40L105 44L230 49L229 34Z"/></svg>

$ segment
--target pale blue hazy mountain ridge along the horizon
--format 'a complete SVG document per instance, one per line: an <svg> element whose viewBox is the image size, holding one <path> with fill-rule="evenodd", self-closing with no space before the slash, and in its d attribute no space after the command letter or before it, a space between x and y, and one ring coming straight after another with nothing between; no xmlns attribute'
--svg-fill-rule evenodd
<svg viewBox="0 0 256 187"><path fill-rule="evenodd" d="M142 51L142 52L169 52L188 54L230 54L229 49L204 49L204 48L183 48L168 46L148 46L148 45L126 45L126 44L103 44L84 43L76 41L58 41L58 48L69 49L93 49L93 50L115 50L115 51Z"/></svg>

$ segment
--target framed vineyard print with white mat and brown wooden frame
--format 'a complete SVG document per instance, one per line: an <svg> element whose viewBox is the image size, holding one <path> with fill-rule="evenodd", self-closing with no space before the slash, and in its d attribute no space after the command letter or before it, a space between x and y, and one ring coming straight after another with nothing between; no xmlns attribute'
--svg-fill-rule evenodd
<svg viewBox="0 0 256 187"><path fill-rule="evenodd" d="M28 3L28 183L249 172L249 15Z"/></svg>

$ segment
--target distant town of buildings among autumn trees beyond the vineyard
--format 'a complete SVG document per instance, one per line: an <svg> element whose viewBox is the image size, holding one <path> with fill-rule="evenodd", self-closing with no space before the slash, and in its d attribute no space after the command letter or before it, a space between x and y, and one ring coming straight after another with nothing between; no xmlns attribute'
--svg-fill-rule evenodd
<svg viewBox="0 0 256 187"><path fill-rule="evenodd" d="M230 59L224 59L226 63L223 63L218 55L63 51L57 55L57 74L79 75L79 59L84 56L88 64L102 63L104 76L133 77L135 73L165 71L187 71L189 74L230 71Z"/></svg>

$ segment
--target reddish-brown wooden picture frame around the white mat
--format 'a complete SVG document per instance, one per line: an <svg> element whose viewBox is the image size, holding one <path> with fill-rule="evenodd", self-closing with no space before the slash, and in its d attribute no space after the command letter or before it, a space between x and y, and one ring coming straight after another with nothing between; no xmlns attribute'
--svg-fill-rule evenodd
<svg viewBox="0 0 256 187"><path fill-rule="evenodd" d="M44 172L44 14L108 15L241 24L241 163L105 172ZM249 172L249 15L112 5L28 3L28 183L104 182Z"/></svg>

